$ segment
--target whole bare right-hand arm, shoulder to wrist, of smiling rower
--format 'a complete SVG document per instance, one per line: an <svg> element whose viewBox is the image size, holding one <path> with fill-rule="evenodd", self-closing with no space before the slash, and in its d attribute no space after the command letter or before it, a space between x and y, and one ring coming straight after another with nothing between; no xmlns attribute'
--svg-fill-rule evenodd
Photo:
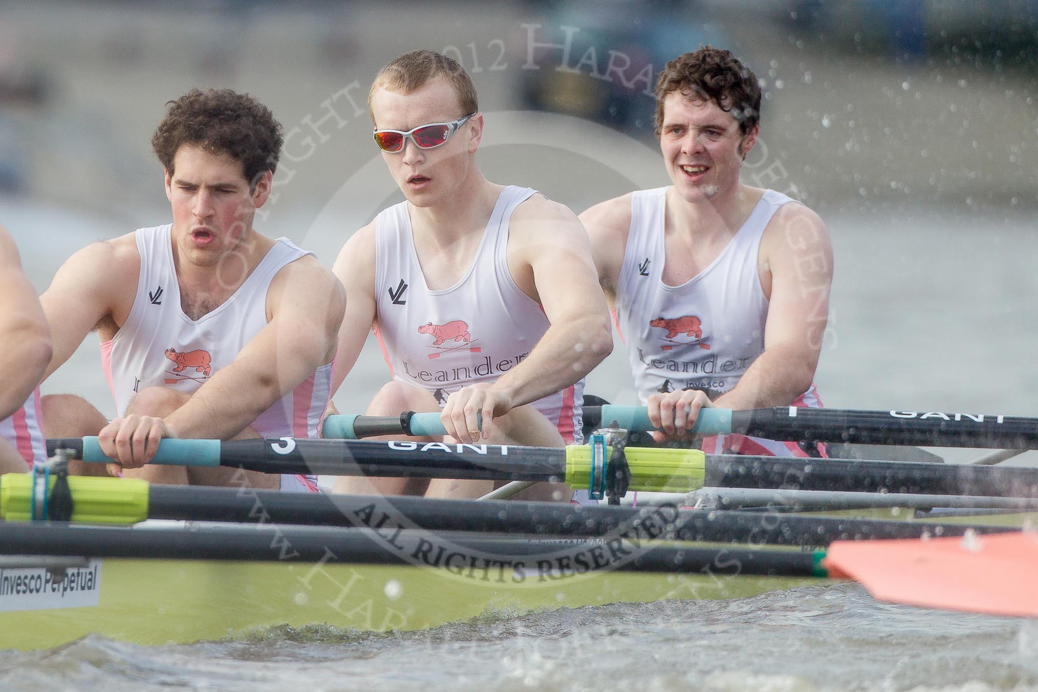
<svg viewBox="0 0 1038 692"><path fill-rule="evenodd" d="M761 240L770 275L764 353L715 405L728 409L787 406L808 390L822 349L832 282L832 245L825 224L801 204L786 204Z"/></svg>

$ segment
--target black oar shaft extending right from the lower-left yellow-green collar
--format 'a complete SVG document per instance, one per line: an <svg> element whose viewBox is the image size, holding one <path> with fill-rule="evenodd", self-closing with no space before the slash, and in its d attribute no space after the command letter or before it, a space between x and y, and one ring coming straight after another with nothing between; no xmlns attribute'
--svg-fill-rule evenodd
<svg viewBox="0 0 1038 692"><path fill-rule="evenodd" d="M148 517L242 523L397 526L430 531L479 531L556 536L620 536L719 543L826 546L832 541L916 538L1011 530L974 526L804 517L752 511L682 509L676 503L644 507L577 506L558 502L481 501L304 495L275 491L152 486Z"/></svg>

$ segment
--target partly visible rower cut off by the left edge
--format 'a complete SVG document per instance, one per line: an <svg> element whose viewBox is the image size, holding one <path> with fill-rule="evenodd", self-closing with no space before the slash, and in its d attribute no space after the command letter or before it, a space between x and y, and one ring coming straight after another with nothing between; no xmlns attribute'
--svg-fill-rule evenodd
<svg viewBox="0 0 1038 692"><path fill-rule="evenodd" d="M51 333L18 248L0 227L0 473L28 470L47 459L39 381L51 360Z"/></svg>

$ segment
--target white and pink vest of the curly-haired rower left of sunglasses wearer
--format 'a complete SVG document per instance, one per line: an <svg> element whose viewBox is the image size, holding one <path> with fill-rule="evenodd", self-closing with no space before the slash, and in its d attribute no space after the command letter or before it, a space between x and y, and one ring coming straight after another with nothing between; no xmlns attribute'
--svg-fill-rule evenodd
<svg viewBox="0 0 1038 692"><path fill-rule="evenodd" d="M137 295L126 324L101 344L102 364L115 397L116 415L144 387L193 392L221 367L229 365L267 326L267 290L285 265L307 254L279 238L234 295L212 312L191 320L181 309L181 288L173 265L172 224L138 228L140 252ZM261 437L318 437L328 403L331 363L267 409L251 427ZM308 475L282 475L281 490L317 492Z"/></svg>

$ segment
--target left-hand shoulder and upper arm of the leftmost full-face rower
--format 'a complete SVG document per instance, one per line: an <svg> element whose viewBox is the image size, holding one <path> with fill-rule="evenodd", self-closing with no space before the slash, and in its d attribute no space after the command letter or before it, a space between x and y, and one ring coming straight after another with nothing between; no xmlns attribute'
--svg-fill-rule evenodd
<svg viewBox="0 0 1038 692"><path fill-rule="evenodd" d="M45 378L61 367L100 323L110 320L113 330L121 325L133 304L134 292L127 287L137 285L139 273L133 233L91 243L61 265L39 297L54 343Z"/></svg>

